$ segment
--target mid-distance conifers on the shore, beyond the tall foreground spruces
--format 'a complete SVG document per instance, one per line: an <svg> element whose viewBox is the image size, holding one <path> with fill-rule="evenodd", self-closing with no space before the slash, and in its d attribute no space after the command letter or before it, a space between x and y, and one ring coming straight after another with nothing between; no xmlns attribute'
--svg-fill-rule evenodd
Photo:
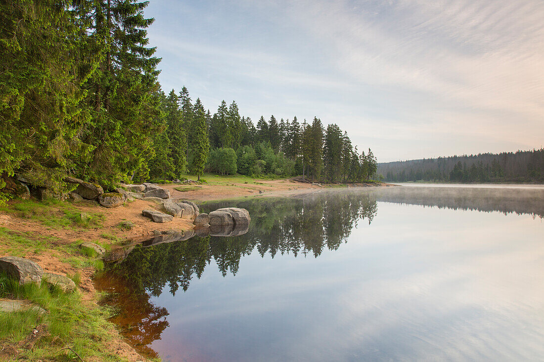
<svg viewBox="0 0 544 362"><path fill-rule="evenodd" d="M184 172L206 170L249 176L296 176L326 182L362 182L376 172L374 154L358 153L347 132L337 124L326 128L319 118L311 123L278 122L240 116L236 102L222 101L212 115L200 99L191 103L187 88L160 92L164 132L156 134L151 178L176 178Z"/></svg>

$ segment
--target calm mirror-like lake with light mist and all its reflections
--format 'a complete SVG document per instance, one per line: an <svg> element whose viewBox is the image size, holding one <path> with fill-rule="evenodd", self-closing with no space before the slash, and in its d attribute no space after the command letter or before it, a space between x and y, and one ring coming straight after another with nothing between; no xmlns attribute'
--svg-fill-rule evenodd
<svg viewBox="0 0 544 362"><path fill-rule="evenodd" d="M96 279L139 352L544 360L543 187L330 189L201 211L226 206L249 210L242 235L132 246Z"/></svg>

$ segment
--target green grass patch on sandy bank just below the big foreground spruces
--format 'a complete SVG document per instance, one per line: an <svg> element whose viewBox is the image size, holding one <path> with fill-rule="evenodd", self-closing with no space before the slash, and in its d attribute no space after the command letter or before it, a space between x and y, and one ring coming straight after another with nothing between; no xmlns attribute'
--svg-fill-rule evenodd
<svg viewBox="0 0 544 362"><path fill-rule="evenodd" d="M0 207L0 211L20 217L36 220L44 226L54 229L71 227L100 227L105 220L101 213L82 213L71 203L50 199L47 201L21 200L11 205Z"/></svg>

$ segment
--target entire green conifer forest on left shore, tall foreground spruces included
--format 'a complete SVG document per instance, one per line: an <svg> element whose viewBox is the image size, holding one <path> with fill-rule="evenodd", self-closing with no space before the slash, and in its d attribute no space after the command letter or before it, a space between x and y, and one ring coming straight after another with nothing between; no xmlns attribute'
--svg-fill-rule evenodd
<svg viewBox="0 0 544 362"><path fill-rule="evenodd" d="M219 173L362 181L376 160L336 124L212 114L186 88L166 95L149 46L147 2L0 4L0 189L17 175L54 193L66 175L120 181ZM0 192L2 195L2 192Z"/></svg>

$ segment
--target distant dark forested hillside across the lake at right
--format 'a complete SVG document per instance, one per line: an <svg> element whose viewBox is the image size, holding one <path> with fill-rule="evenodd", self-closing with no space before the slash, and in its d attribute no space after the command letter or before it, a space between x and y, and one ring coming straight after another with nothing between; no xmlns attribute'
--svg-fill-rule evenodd
<svg viewBox="0 0 544 362"><path fill-rule="evenodd" d="M544 148L378 164L389 182L544 182Z"/></svg>

